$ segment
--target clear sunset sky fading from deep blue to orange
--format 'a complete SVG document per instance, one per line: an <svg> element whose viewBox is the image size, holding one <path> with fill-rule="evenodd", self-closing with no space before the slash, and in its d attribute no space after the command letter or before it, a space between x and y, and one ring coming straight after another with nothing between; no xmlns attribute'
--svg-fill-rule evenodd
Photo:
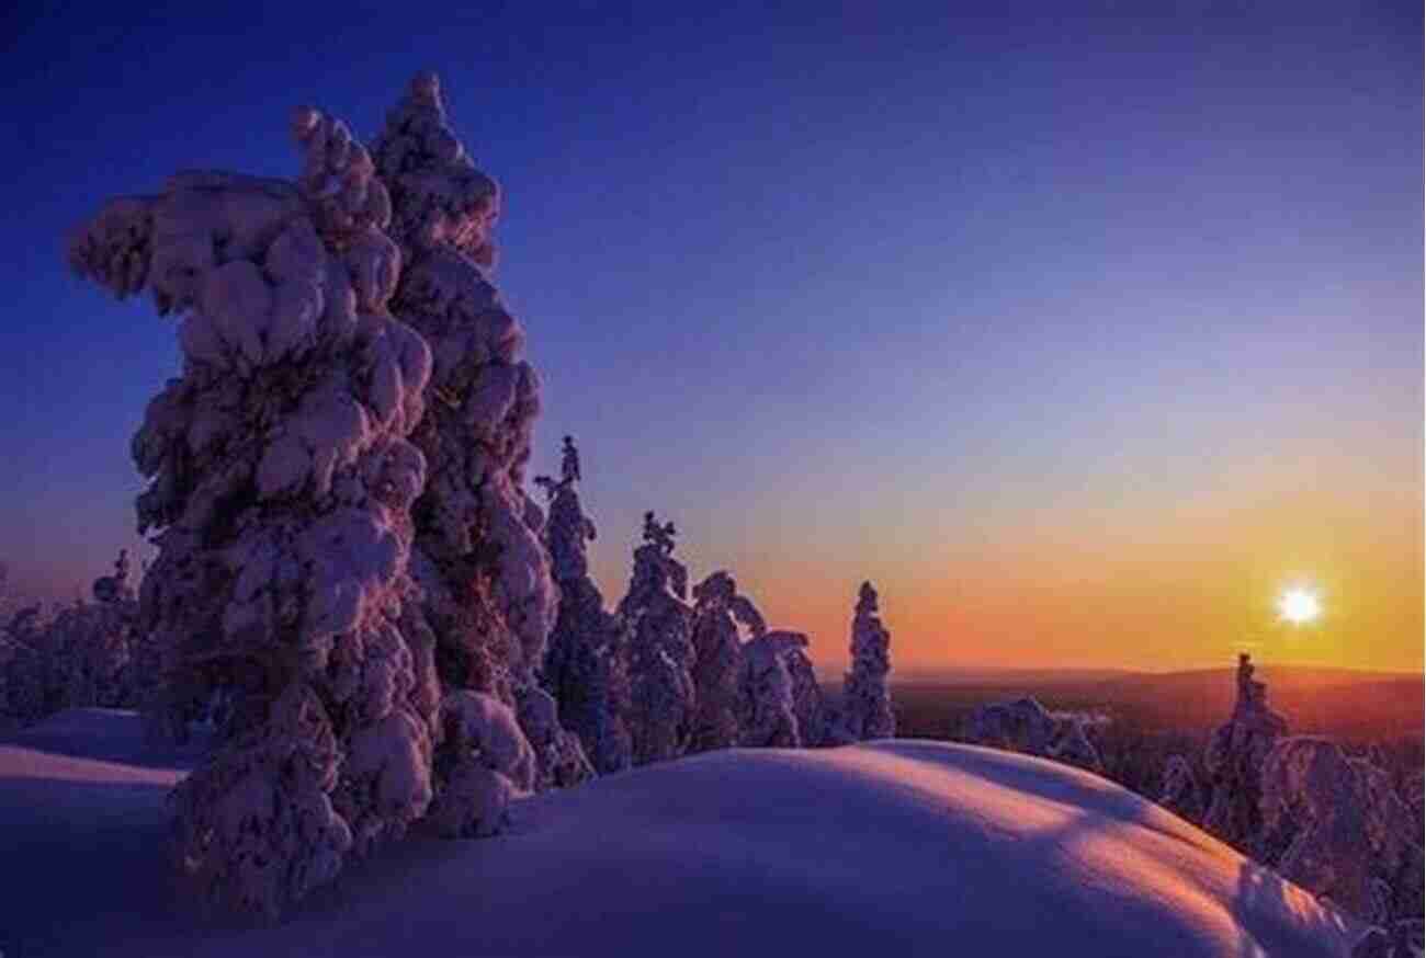
<svg viewBox="0 0 1426 958"><path fill-rule="evenodd" d="M906 669L1422 667L1416 0L97 6L0 14L27 590L137 542L178 362L64 231L178 168L292 175L292 105L369 138L431 67L610 603L653 508L827 666L870 577ZM1293 582L1322 623L1273 622Z"/></svg>

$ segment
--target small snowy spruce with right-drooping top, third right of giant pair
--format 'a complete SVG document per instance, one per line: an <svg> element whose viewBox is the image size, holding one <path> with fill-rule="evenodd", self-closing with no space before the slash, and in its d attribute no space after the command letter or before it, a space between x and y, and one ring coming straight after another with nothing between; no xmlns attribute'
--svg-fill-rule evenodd
<svg viewBox="0 0 1426 958"><path fill-rule="evenodd" d="M739 744L743 637L767 632L753 600L737 592L737 582L719 570L693 586L693 744L690 751Z"/></svg>

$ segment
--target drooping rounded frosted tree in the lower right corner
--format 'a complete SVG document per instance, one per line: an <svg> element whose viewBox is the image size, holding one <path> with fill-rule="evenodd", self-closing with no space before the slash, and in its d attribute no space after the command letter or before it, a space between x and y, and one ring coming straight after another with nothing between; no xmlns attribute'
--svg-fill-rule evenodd
<svg viewBox="0 0 1426 958"><path fill-rule="evenodd" d="M1420 915L1420 841L1386 771L1295 736L1268 753L1259 801L1265 833L1292 835L1275 861L1285 878L1366 921ZM1397 882L1410 900L1393 901Z"/></svg>

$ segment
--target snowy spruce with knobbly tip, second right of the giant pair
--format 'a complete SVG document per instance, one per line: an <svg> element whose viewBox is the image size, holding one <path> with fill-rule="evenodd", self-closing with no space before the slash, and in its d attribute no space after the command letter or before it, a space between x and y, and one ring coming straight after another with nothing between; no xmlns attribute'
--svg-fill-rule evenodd
<svg viewBox="0 0 1426 958"><path fill-rule="evenodd" d="M643 545L633 550L629 593L617 610L630 636L626 723L636 766L677 758L693 738L693 609L687 569L673 557L674 535L672 522L645 513Z"/></svg>

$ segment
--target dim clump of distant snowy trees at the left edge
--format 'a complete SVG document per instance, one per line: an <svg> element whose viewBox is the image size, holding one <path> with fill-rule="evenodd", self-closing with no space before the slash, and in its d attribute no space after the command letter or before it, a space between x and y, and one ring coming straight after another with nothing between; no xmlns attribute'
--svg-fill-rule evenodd
<svg viewBox="0 0 1426 958"><path fill-rule="evenodd" d="M93 600L46 614L27 606L0 620L0 724L24 726L61 709L133 709L150 690L153 647L138 629L128 553L94 580Z"/></svg>

